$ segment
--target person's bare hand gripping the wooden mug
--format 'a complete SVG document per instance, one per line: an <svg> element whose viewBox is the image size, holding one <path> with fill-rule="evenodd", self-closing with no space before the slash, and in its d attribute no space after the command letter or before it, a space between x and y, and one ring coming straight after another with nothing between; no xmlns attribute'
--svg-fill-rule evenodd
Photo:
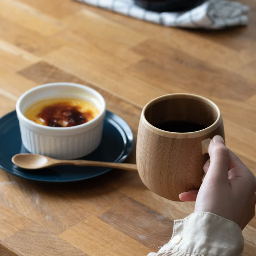
<svg viewBox="0 0 256 256"><path fill-rule="evenodd" d="M195 212L212 212L244 229L255 215L256 177L221 136L213 137L208 151L200 189L181 193L180 200L196 201Z"/></svg>

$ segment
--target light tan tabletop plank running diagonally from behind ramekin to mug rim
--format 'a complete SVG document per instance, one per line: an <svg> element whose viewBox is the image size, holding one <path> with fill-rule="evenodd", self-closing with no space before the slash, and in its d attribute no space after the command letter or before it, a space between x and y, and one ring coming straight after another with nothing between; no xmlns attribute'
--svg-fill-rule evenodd
<svg viewBox="0 0 256 256"><path fill-rule="evenodd" d="M65 72L80 77L89 84L117 94L139 107L167 93L163 89L120 71L117 66L112 68L109 63L87 58L81 52L67 46L45 55L44 60Z"/></svg>

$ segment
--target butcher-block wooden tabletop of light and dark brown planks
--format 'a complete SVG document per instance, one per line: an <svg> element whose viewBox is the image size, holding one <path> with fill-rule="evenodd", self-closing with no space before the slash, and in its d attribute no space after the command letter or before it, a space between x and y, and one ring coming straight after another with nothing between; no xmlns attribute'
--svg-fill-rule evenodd
<svg viewBox="0 0 256 256"><path fill-rule="evenodd" d="M200 94L219 105L228 147L256 174L256 1L241 2L252 8L248 27L198 31L70 0L0 0L0 115L29 88L75 82L98 90L136 139L149 100ZM134 172L46 184L0 170L0 255L147 255L193 209L154 195ZM243 234L244 255L255 256L256 218Z"/></svg>

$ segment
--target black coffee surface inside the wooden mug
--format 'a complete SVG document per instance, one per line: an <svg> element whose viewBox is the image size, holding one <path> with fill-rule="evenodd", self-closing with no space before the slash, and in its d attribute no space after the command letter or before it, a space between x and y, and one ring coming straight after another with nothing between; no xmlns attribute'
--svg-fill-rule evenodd
<svg viewBox="0 0 256 256"><path fill-rule="evenodd" d="M167 132L196 132L207 126L189 121L173 120L156 124L155 127Z"/></svg>

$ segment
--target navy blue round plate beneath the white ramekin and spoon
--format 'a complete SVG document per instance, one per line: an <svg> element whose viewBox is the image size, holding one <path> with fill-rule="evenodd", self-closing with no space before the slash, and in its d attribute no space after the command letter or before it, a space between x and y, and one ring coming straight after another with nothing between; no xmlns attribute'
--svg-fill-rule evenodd
<svg viewBox="0 0 256 256"><path fill-rule="evenodd" d="M132 146L133 134L129 125L120 116L107 111L100 146L81 159L120 163L130 154ZM18 153L29 152L21 143L16 111L12 111L0 119L0 168L6 172L29 180L67 182L89 179L111 170L71 165L26 170L12 164L12 156Z"/></svg>

